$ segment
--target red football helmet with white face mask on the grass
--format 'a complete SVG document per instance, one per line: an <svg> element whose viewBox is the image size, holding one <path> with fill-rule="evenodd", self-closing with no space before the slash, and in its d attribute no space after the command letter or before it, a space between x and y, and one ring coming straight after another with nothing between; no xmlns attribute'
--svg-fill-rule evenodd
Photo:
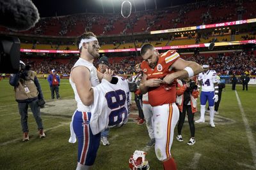
<svg viewBox="0 0 256 170"><path fill-rule="evenodd" d="M136 150L129 159L129 167L132 170L148 170L148 160L145 158L147 153Z"/></svg>

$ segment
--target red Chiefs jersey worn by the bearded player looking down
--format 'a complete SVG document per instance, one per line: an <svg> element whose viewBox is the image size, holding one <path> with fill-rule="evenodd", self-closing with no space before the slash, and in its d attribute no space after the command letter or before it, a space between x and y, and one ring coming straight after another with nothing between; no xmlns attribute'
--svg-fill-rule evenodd
<svg viewBox="0 0 256 170"><path fill-rule="evenodd" d="M170 70L173 62L180 58L176 50L168 50L158 56L158 62L154 69L148 66L147 61L141 63L141 69L144 74L147 74L147 80L152 78L164 78L167 74L173 73ZM166 90L166 86L170 90ZM148 88L148 102L151 106L160 106L162 104L175 103L176 100L176 81L170 85L160 85L159 87Z"/></svg>

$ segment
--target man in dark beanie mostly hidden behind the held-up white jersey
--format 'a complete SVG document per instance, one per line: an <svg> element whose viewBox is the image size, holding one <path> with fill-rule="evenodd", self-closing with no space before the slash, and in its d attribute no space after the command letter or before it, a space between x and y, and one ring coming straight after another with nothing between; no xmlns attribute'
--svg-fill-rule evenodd
<svg viewBox="0 0 256 170"><path fill-rule="evenodd" d="M100 57L98 64L99 64L98 71L100 73L104 74L106 69L109 68L108 57L106 57L106 56ZM108 141L108 134L109 134L109 128L105 129L105 131L101 132L101 142L104 146L110 145L110 143Z"/></svg>

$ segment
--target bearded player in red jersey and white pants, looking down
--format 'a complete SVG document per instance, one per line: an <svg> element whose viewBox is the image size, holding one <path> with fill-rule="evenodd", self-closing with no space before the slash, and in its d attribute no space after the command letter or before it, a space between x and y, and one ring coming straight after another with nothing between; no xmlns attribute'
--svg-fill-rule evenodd
<svg viewBox="0 0 256 170"><path fill-rule="evenodd" d="M170 153L174 128L179 120L179 109L175 104L176 79L194 76L203 68L196 62L180 59L176 50L158 53L150 44L141 47L141 57L144 74L140 90L143 94L148 92L148 102L153 107L156 156L163 161L164 170L177 169Z"/></svg>

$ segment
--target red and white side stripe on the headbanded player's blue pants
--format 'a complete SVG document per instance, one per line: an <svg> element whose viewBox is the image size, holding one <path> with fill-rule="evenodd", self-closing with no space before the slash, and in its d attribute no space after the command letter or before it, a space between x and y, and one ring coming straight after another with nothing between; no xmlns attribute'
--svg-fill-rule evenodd
<svg viewBox="0 0 256 170"><path fill-rule="evenodd" d="M82 116L83 116L83 122L86 122L87 120L89 120L86 112L83 112ZM83 149L82 149L79 163L84 165L86 160L86 155L88 153L89 143L90 143L90 138L88 138L90 135L90 131L89 131L88 125L84 124L83 127L84 127L83 129L84 141L83 141Z"/></svg>

